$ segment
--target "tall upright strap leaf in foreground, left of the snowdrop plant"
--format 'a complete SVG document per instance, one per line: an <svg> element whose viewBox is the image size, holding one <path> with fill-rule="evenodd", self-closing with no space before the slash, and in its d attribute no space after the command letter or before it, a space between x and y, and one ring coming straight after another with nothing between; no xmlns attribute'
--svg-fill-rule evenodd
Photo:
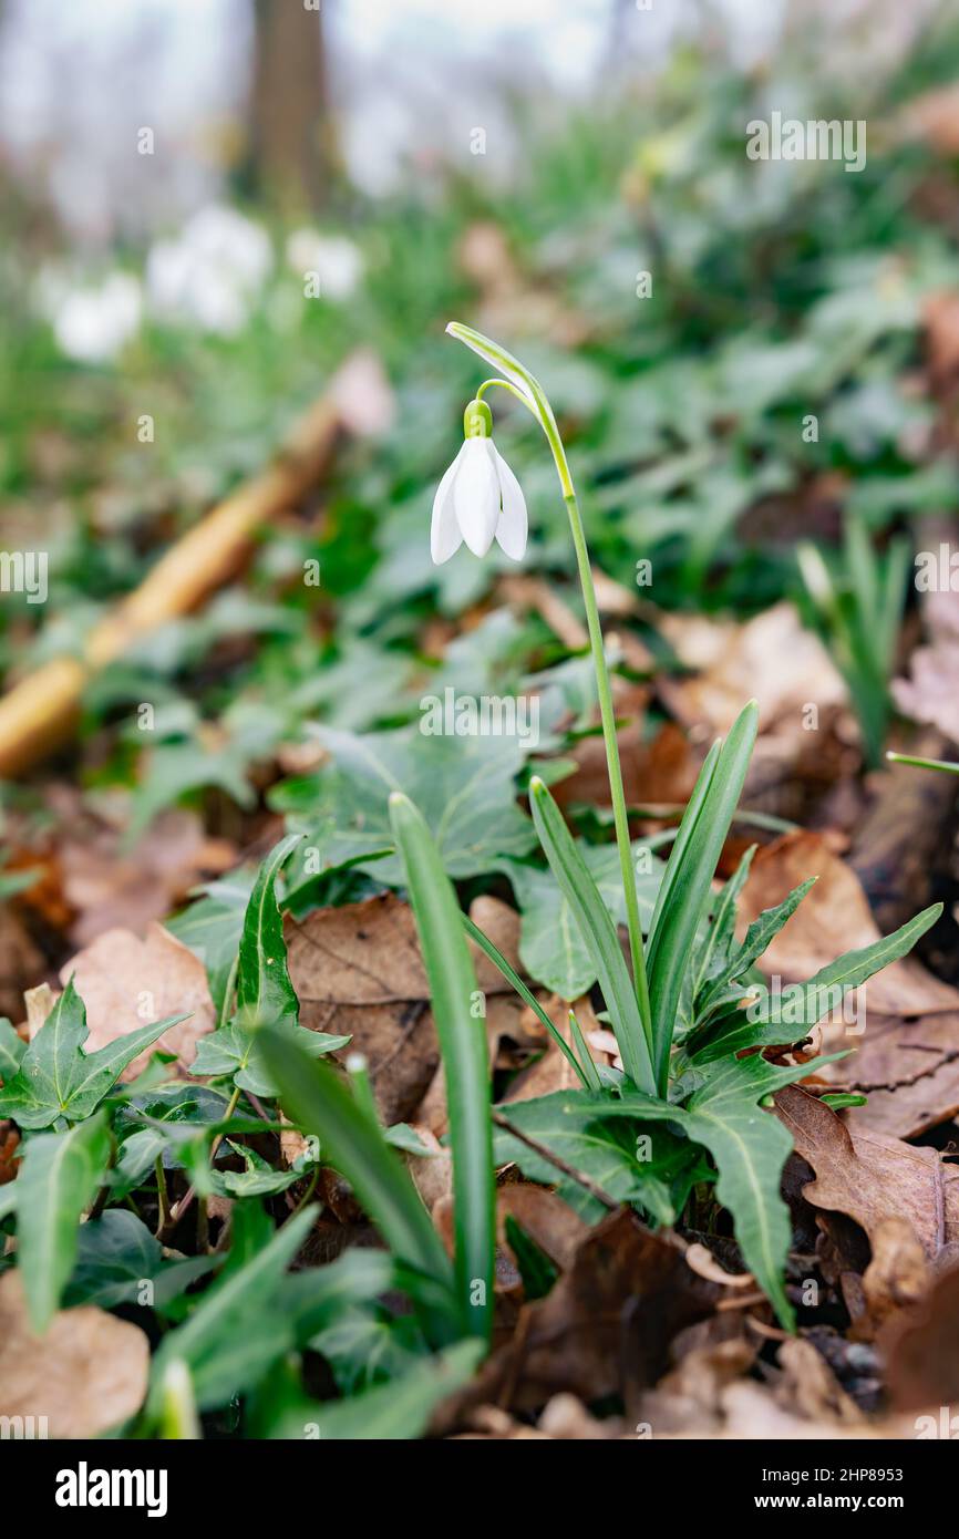
<svg viewBox="0 0 959 1539"><path fill-rule="evenodd" d="M389 797L389 822L403 860L443 1062L460 1311L468 1334L488 1337L493 1328L496 1171L485 1010L476 1010L480 993L460 906L426 823L402 793Z"/></svg>

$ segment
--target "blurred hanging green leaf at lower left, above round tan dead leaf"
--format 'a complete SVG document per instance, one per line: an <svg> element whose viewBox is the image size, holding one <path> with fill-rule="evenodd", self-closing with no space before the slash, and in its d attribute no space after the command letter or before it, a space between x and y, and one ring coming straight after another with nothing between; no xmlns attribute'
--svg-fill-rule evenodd
<svg viewBox="0 0 959 1539"><path fill-rule="evenodd" d="M80 1217L106 1174L109 1130L103 1117L31 1139L17 1177L17 1265L26 1307L40 1336L74 1268Z"/></svg>

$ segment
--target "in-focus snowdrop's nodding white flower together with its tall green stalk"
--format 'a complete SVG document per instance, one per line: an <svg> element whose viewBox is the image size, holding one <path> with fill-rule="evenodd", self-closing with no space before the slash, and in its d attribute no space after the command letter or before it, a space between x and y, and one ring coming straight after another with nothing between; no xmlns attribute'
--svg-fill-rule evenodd
<svg viewBox="0 0 959 1539"><path fill-rule="evenodd" d="M583 520L576 499L573 474L566 451L560 437L556 416L546 399L546 392L537 379L514 359L511 352L500 348L497 342L483 337L459 322L446 326L451 337L463 342L479 354L497 372L496 377L483 380L469 402L465 414L465 442L460 454L453 462L446 476L440 482L433 505L433 559L446 560L459 546L460 539L466 540L476 554L485 554L496 537L508 556L522 557L526 543L526 505L513 471L499 456L493 445L493 414L483 396L494 385L510 391L536 417L553 454L556 474L570 516L570 531L576 551L576 566L586 611L586 629L590 634L590 649L596 669L596 688L599 694L599 714L606 748L606 766L610 773L610 794L613 800L613 823L616 828L616 843L619 848L619 865L623 883L627 910L627 933L630 936L630 956L633 962L633 986L639 1005L642 1030L647 1039L650 1059L656 1062L653 1043L653 1013L650 1010L650 988L647 982L647 965L643 956L642 928L639 923L639 902L636 897L636 873L633 870L633 850L630 845L630 822L627 816L627 800L623 796L623 779L619 762L619 746L616 742L616 716L613 711L613 689L610 686L610 669L603 649L603 633L593 586L593 571L590 568L590 551ZM496 459L493 459L496 457ZM469 466L468 479L466 466ZM476 466L473 469L471 466ZM505 472L505 474L503 474ZM497 482L499 476L499 482ZM499 497L497 497L499 488ZM522 516L520 516L522 505ZM520 540L522 532L522 540Z"/></svg>

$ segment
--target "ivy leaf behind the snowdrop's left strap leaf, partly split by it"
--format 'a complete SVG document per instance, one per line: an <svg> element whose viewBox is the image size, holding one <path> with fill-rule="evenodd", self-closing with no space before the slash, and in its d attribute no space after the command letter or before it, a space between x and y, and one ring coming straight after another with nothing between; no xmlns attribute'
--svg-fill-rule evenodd
<svg viewBox="0 0 959 1539"><path fill-rule="evenodd" d="M625 923L625 902L619 851L616 845L588 845L577 839L576 848L583 857L599 894L617 925ZM639 840L634 854L643 850ZM651 870L636 877L639 917L643 930L648 926L662 880L663 863L650 856ZM500 859L497 870L503 871L516 894L520 910L519 954L530 974L560 999L579 999L596 983L596 966L583 940L573 910L550 866L528 865L522 860Z"/></svg>

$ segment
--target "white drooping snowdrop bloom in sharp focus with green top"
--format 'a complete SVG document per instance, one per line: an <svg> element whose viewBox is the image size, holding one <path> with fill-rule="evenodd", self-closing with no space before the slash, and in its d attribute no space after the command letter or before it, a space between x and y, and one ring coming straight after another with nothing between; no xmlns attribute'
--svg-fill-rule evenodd
<svg viewBox="0 0 959 1539"><path fill-rule="evenodd" d="M526 500L491 432L486 402L471 400L463 412L463 446L433 499L429 549L437 566L463 540L474 556L485 556L496 539L514 562L523 559Z"/></svg>

